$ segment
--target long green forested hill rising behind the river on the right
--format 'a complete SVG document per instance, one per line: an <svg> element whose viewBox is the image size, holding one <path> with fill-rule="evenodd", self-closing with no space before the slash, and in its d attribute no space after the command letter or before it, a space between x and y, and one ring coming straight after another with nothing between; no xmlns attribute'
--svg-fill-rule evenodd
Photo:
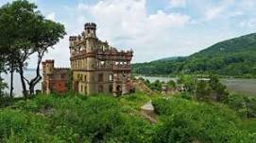
<svg viewBox="0 0 256 143"><path fill-rule="evenodd" d="M132 65L137 74L208 73L256 76L256 33L224 40L198 53L173 60L156 60Z"/></svg>

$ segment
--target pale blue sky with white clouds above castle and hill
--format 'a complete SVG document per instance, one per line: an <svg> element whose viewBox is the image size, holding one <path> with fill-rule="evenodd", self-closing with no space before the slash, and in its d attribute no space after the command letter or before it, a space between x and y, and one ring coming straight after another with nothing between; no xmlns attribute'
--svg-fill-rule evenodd
<svg viewBox="0 0 256 143"><path fill-rule="evenodd" d="M69 36L85 23L119 50L134 51L132 63L190 56L221 40L256 32L256 0L29 0L67 35L44 59L69 67ZM0 6L11 0L0 0ZM32 56L28 67L35 66Z"/></svg>

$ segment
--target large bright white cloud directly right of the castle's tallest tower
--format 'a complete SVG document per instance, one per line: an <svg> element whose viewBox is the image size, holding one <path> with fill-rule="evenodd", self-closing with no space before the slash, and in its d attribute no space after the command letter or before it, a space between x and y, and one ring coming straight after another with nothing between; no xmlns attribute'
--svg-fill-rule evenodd
<svg viewBox="0 0 256 143"><path fill-rule="evenodd" d="M90 17L98 24L99 39L109 40L111 45L122 49L132 48L133 61L146 61L148 56L151 59L170 56L176 50L170 49L171 35L188 24L190 17L162 10L148 15L145 3L145 0L105 0L94 6L79 4L77 19Z"/></svg>

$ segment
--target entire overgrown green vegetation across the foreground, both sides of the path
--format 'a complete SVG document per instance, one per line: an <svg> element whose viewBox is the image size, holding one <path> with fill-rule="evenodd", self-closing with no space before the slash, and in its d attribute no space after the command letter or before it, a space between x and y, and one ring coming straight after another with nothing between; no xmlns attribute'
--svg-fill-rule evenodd
<svg viewBox="0 0 256 143"><path fill-rule="evenodd" d="M140 107L149 100L158 115L155 124L141 114ZM235 109L240 104L229 101L201 103L179 95L162 98L144 93L119 98L103 94L37 95L2 106L0 141L255 142L256 130L246 128L255 126L255 121L244 120Z"/></svg>

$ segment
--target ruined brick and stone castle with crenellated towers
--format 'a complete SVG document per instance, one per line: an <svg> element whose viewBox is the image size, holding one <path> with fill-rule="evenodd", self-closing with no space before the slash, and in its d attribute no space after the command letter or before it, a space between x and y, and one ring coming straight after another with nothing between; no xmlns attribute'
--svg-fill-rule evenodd
<svg viewBox="0 0 256 143"><path fill-rule="evenodd" d="M94 93L121 95L132 90L130 61L133 52L131 50L118 51L107 41L98 40L96 24L93 23L85 24L81 35L70 37L69 42L73 90L87 95ZM67 70L56 69L53 62L51 60L43 62L44 93L62 92L67 88ZM50 83L49 81L55 81L56 84L47 84Z"/></svg>

